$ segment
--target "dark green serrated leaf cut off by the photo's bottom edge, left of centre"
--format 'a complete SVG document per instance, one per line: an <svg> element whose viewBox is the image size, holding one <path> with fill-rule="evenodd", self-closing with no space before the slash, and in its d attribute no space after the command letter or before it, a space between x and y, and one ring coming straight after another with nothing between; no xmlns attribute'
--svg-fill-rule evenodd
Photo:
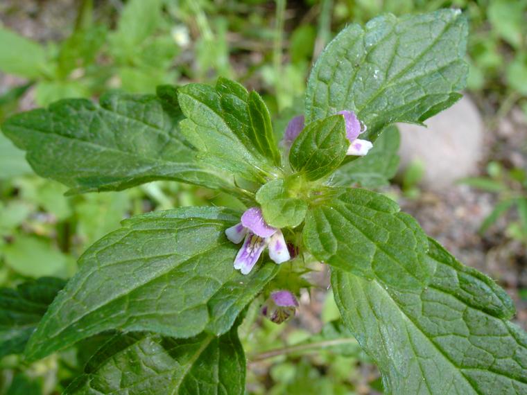
<svg viewBox="0 0 527 395"><path fill-rule="evenodd" d="M117 335L87 363L64 395L243 394L245 356L237 328L189 339Z"/></svg>

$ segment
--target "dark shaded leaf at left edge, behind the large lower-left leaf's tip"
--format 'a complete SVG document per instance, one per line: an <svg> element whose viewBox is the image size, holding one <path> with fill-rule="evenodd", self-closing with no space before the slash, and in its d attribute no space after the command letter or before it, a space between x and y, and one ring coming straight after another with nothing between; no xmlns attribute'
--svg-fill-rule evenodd
<svg viewBox="0 0 527 395"><path fill-rule="evenodd" d="M65 281L42 277L16 290L0 288L0 358L24 351L26 342Z"/></svg>

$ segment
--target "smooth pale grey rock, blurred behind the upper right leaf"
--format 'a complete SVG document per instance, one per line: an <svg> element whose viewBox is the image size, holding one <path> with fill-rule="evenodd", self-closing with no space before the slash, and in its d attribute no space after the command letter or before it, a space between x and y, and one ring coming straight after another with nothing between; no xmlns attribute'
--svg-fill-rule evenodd
<svg viewBox="0 0 527 395"><path fill-rule="evenodd" d="M399 124L401 171L411 161L424 163L422 186L441 189L474 175L483 153L483 121L468 96L419 125Z"/></svg>

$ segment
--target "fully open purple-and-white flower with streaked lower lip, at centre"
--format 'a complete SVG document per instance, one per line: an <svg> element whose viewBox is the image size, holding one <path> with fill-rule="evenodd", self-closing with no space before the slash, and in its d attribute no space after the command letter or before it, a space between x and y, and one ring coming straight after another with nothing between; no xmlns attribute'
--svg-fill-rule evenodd
<svg viewBox="0 0 527 395"><path fill-rule="evenodd" d="M266 247L269 249L269 258L277 264L291 259L282 231L268 225L258 207L246 210L241 222L226 229L225 235L234 244L243 240L234 259L234 269L240 270L241 274L249 274Z"/></svg>

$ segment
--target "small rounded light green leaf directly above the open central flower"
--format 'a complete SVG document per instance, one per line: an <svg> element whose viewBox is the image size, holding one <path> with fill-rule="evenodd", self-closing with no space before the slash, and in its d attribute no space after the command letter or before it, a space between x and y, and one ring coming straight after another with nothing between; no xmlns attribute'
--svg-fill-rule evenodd
<svg viewBox="0 0 527 395"><path fill-rule="evenodd" d="M297 227L306 216L307 203L290 195L288 182L284 179L264 184L257 192L256 200L266 222L272 227Z"/></svg>

